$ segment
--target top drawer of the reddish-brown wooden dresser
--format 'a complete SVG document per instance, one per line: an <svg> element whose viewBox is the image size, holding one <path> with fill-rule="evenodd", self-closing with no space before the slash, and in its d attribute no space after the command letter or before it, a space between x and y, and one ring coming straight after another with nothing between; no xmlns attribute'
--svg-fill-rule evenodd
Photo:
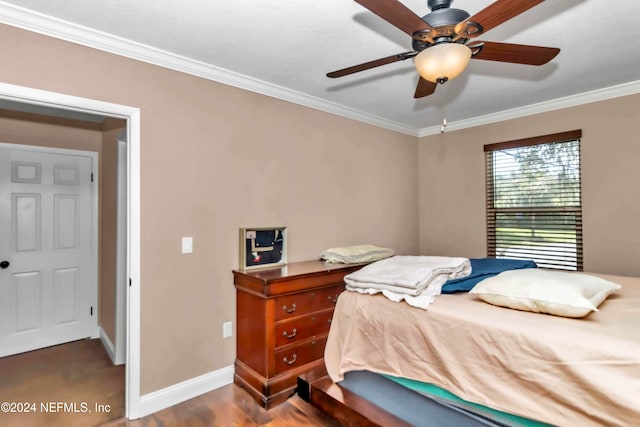
<svg viewBox="0 0 640 427"><path fill-rule="evenodd" d="M275 320L290 319L314 311L333 308L344 285L286 295L275 300Z"/></svg>

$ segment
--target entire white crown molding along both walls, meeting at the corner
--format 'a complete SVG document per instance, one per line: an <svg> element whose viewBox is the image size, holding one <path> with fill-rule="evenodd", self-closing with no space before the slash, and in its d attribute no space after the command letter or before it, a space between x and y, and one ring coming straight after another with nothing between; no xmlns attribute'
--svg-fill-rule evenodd
<svg viewBox="0 0 640 427"><path fill-rule="evenodd" d="M440 133L439 125L422 129L415 128L2 1L0 1L0 23L336 114L394 132L416 137ZM450 122L447 125L447 131L451 132L496 123L639 92L640 81L620 84L511 110Z"/></svg>

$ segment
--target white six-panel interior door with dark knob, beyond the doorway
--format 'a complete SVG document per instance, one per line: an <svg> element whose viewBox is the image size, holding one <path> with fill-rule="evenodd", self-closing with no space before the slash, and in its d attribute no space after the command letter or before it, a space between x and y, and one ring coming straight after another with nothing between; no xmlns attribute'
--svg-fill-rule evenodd
<svg viewBox="0 0 640 427"><path fill-rule="evenodd" d="M93 162L0 144L0 357L95 334Z"/></svg>

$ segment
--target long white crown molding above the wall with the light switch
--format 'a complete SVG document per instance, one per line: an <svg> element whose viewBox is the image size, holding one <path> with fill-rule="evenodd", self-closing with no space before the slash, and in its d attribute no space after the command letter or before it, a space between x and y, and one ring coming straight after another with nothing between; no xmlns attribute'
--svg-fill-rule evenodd
<svg viewBox="0 0 640 427"><path fill-rule="evenodd" d="M157 65L204 79L234 86L251 92L336 114L359 122L382 127L411 136L418 129L396 121L367 114L353 108L313 97L289 88L274 85L234 71L216 67L184 56L175 55L151 46L127 40L102 31L44 15L29 9L0 1L0 22L43 34L49 37L99 49L105 52Z"/></svg>

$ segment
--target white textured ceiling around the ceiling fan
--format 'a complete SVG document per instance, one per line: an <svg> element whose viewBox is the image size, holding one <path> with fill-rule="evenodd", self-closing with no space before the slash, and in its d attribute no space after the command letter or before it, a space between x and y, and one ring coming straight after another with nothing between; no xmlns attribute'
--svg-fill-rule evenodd
<svg viewBox="0 0 640 427"><path fill-rule="evenodd" d="M428 13L427 0L402 2L420 16ZM491 3L455 0L452 7L473 15ZM34 14L35 24L25 25L31 11L44 16ZM275 96L284 91L294 102L416 134L438 128L443 108L455 128L457 122L619 85L640 91L638 0L545 1L478 39L559 47L553 61L533 67L472 60L460 77L418 100L412 60L325 77L412 50L408 35L353 0L0 1L0 22L38 31L48 17L86 27L75 28L75 41L82 42L79 29L98 30L140 49L229 71L234 84L249 90L273 88Z"/></svg>

